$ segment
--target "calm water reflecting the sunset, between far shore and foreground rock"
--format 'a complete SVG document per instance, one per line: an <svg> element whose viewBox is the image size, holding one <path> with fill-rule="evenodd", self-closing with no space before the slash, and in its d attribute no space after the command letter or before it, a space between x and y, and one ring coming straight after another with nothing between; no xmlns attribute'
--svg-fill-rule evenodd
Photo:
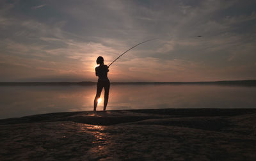
<svg viewBox="0 0 256 161"><path fill-rule="evenodd" d="M0 86L0 90L0 119L3 119L49 112L92 111L96 86ZM111 85L107 110L256 108L255 96L255 87ZM102 108L103 102L100 102L97 110Z"/></svg>

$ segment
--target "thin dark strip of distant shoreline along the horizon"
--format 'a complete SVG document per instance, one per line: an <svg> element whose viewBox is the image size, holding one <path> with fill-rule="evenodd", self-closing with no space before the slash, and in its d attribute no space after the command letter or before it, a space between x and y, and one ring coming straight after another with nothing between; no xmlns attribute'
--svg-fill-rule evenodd
<svg viewBox="0 0 256 161"><path fill-rule="evenodd" d="M97 82L0 82L0 86L93 86ZM256 80L241 80L241 81L204 81L204 82L111 82L111 84L133 84L133 85L146 85L146 84L197 84L197 85L226 85L226 86L256 86Z"/></svg>

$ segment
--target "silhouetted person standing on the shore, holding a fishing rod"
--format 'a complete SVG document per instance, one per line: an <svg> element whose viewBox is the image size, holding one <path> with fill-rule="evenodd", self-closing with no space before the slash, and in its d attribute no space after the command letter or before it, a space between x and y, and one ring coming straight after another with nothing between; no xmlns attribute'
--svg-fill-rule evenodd
<svg viewBox="0 0 256 161"><path fill-rule="evenodd" d="M97 104L98 104L98 99L100 98L100 93L102 91L102 88L104 88L104 111L106 111L106 107L107 107L107 104L108 104L108 94L109 94L109 86L110 86L110 82L108 80L108 66L107 65L104 65L104 59L102 56L99 56L97 58L97 61L96 61L97 66L95 68L95 74L96 76L99 77L98 79L98 83L97 83L97 93L96 93L96 96L95 96L95 99L94 99L94 108L93 108L93 111L96 111L96 108L97 108Z"/></svg>

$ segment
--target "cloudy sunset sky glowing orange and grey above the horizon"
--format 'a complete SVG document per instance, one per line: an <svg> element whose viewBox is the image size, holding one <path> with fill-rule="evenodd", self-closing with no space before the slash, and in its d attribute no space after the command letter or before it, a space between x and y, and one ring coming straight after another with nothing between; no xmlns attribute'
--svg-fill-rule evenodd
<svg viewBox="0 0 256 161"><path fill-rule="evenodd" d="M201 37L198 37L201 36ZM0 81L256 79L256 1L0 1Z"/></svg>

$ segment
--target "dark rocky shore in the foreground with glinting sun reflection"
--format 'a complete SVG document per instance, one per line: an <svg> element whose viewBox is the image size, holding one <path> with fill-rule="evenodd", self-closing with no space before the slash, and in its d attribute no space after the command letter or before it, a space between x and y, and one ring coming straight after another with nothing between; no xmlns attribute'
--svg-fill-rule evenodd
<svg viewBox="0 0 256 161"><path fill-rule="evenodd" d="M0 160L256 160L256 109L61 112L0 126Z"/></svg>

